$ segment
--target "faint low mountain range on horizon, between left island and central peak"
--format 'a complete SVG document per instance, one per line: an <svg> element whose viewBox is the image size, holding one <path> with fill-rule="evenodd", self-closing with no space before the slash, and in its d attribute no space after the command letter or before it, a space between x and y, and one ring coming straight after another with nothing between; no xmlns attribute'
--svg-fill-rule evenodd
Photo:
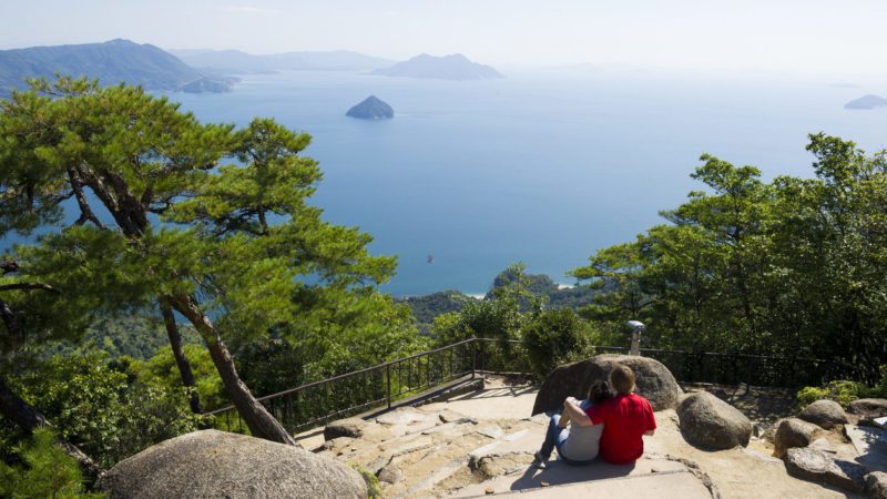
<svg viewBox="0 0 887 499"><path fill-rule="evenodd" d="M194 68L215 72L266 73L276 71L361 71L386 68L395 61L347 50L285 52L254 55L239 50L171 50Z"/></svg>

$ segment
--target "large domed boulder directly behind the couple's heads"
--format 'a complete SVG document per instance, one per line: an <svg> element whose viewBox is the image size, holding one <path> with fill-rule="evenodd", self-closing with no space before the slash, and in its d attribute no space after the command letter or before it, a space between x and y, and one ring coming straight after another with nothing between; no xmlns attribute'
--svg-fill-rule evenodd
<svg viewBox="0 0 887 499"><path fill-rule="evenodd" d="M599 380L609 381L616 364L634 371L635 391L650 400L653 410L673 409L683 394L672 373L659 360L629 355L598 355L585 360L559 366L551 371L536 395L533 415L563 408L563 400L585 398L589 387Z"/></svg>

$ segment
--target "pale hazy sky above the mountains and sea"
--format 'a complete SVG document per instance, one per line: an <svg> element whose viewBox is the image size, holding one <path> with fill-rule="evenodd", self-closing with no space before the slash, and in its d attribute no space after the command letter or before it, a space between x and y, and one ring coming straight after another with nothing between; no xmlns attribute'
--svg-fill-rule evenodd
<svg viewBox="0 0 887 499"><path fill-rule="evenodd" d="M885 72L884 0L0 0L0 48L126 38L253 53Z"/></svg>

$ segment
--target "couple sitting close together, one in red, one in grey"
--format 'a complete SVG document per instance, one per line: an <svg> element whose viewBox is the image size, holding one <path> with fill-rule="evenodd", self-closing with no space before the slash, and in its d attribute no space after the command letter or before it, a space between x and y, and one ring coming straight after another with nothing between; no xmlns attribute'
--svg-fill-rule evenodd
<svg viewBox="0 0 887 499"><path fill-rule="evenodd" d="M653 435L656 420L650 403L633 390L634 371L618 364L610 371L610 384L592 384L585 400L567 397L563 413L551 416L533 465L546 468L554 448L571 465L591 462L599 455L612 465L638 460L644 454L642 437Z"/></svg>

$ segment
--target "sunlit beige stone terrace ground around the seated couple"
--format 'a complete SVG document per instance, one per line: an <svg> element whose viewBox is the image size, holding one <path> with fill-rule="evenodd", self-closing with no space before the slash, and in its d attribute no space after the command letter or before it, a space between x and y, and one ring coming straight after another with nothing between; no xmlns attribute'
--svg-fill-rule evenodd
<svg viewBox="0 0 887 499"><path fill-rule="evenodd" d="M530 387L488 383L488 388L418 408L400 408L364 427L360 438L324 442L323 435L299 436L309 449L359 465L381 479L385 497L521 498L845 498L844 492L795 479L771 456L763 440L743 449L696 449L677 428L673 410L656 413L659 429L645 438L646 454L633 467L594 462L584 467L551 461L530 466L541 445L547 418L530 418ZM840 448L842 454L853 451ZM720 496L718 496L720 493Z"/></svg>

